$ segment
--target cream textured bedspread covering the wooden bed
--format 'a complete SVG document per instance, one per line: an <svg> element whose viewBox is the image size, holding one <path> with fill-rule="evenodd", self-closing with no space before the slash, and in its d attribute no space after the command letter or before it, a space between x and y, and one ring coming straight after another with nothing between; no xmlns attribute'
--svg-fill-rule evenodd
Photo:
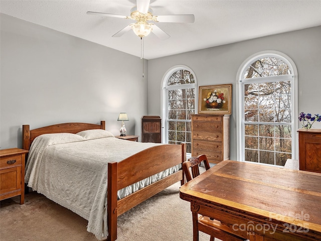
<svg viewBox="0 0 321 241"><path fill-rule="evenodd" d="M57 135L57 136L56 136ZM37 137L30 149L25 182L33 190L88 220L87 230L102 240L107 232L107 163L119 162L154 143L137 143L114 137L86 140L75 134ZM128 195L179 168L142 180L118 192Z"/></svg>

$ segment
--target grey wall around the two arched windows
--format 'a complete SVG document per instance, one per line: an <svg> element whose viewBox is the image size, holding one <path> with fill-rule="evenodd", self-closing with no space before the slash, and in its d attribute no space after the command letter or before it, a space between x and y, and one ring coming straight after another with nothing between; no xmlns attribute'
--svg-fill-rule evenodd
<svg viewBox="0 0 321 241"><path fill-rule="evenodd" d="M198 86L232 83L230 159L236 160L235 81L243 61L264 50L279 51L289 56L298 71L298 113L321 114L320 41L321 26L148 60L148 114L161 115L162 78L175 65L189 66L196 75ZM321 122L313 126L321 129Z"/></svg>

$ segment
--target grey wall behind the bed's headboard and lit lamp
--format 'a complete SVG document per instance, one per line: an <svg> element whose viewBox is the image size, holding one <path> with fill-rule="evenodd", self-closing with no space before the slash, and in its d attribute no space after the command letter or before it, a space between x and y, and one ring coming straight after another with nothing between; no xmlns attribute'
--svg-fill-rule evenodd
<svg viewBox="0 0 321 241"><path fill-rule="evenodd" d="M127 134L140 135L147 113L141 70L138 57L1 14L0 149L21 148L25 124L105 120L119 135L122 111Z"/></svg>

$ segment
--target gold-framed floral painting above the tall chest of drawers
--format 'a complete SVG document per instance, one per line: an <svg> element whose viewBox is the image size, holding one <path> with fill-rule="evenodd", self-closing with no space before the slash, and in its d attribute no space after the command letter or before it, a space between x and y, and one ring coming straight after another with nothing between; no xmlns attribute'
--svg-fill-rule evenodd
<svg viewBox="0 0 321 241"><path fill-rule="evenodd" d="M231 114L231 104L232 84L199 87L199 114Z"/></svg>

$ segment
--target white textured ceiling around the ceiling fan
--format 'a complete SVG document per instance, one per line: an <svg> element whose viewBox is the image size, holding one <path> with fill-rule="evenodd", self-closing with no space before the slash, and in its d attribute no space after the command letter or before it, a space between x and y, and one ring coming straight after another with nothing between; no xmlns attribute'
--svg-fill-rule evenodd
<svg viewBox="0 0 321 241"><path fill-rule="evenodd" d="M87 15L130 15L136 0L1 0L1 13L140 57L132 31L111 37L132 20ZM194 14L195 23L157 23L171 38L144 38L153 59L321 25L321 0L150 0L154 15Z"/></svg>

